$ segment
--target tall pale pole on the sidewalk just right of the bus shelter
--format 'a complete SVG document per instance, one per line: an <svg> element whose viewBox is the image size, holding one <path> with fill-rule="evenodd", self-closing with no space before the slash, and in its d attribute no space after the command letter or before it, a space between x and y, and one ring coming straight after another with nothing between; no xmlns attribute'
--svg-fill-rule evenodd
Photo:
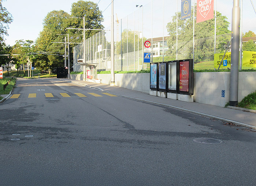
<svg viewBox="0 0 256 186"><path fill-rule="evenodd" d="M115 71L114 71L114 0L111 0L111 83L110 86L115 86Z"/></svg>

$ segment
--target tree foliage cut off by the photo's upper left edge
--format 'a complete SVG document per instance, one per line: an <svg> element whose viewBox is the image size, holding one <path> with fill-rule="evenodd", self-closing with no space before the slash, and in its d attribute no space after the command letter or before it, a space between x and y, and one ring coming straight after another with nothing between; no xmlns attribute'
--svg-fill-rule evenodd
<svg viewBox="0 0 256 186"><path fill-rule="evenodd" d="M3 7L2 2L0 1L0 44L3 44L4 36L8 36L8 24L10 24L12 21L12 15L5 7Z"/></svg>

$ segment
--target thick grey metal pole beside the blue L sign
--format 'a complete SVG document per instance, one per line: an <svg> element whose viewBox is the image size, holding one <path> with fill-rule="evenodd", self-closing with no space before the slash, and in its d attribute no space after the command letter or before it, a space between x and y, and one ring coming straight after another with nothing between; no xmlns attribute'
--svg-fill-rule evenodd
<svg viewBox="0 0 256 186"><path fill-rule="evenodd" d="M230 70L230 106L238 104L238 66L239 66L239 34L240 7L239 0L233 0L231 28L231 70Z"/></svg>

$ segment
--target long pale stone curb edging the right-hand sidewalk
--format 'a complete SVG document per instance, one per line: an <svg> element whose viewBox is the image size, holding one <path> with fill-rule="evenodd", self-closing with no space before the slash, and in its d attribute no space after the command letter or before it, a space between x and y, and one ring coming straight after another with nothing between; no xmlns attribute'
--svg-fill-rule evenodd
<svg viewBox="0 0 256 186"><path fill-rule="evenodd" d="M205 116L207 118L217 119L217 120L220 120L220 121L223 121L223 122L233 123L233 124L235 124L237 126L242 126L242 127L246 127L246 128L249 128L249 129L255 129L256 130L256 126L249 125L249 124L246 124L246 123L241 123L241 122L237 122L237 121L226 119L226 118L220 118L218 116L204 114L204 113L201 113L201 112L196 112L196 111L192 111L192 110L181 108L181 107L176 107L176 106L167 105L167 104L163 104L163 103L157 103L157 102L154 102L154 101L142 100L142 99L139 99L139 98L129 97L129 96L123 96L123 95L120 95L120 94L108 92L108 91L103 90L101 88L97 88L97 87L94 87L94 86L87 85L85 83L79 83L79 82L74 82L74 81L67 81L67 82L74 83L74 84L77 84L77 85L88 86L89 88L97 89L97 90L100 90L100 91L103 91L103 92L107 92L107 93L111 93L111 94L114 94L114 95L119 96L119 97L124 97L124 98L132 99L132 100L137 100L137 101L143 101L143 102L146 102L146 103L152 103L152 104L156 104L156 105L161 105L161 106L164 106L164 107L169 107L169 108L177 109L177 110L180 110L180 111L189 112L189 113L192 113L192 114L196 114L196 115L200 115L200 116ZM228 108L229 107L230 106L228 106ZM235 108L237 108L237 107L235 107Z"/></svg>

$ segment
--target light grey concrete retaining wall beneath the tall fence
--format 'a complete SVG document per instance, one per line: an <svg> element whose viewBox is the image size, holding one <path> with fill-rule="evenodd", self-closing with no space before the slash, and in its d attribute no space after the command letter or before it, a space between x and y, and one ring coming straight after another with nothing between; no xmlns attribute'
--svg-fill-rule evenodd
<svg viewBox="0 0 256 186"><path fill-rule="evenodd" d="M81 75L82 80L82 74ZM71 75L72 79L76 79ZM78 77L77 77L78 78ZM98 74L101 83L110 84L111 74ZM115 85L149 93L149 74L115 74ZM239 72L238 101L256 90L256 72ZM224 107L229 102L230 72L194 73L194 101Z"/></svg>

